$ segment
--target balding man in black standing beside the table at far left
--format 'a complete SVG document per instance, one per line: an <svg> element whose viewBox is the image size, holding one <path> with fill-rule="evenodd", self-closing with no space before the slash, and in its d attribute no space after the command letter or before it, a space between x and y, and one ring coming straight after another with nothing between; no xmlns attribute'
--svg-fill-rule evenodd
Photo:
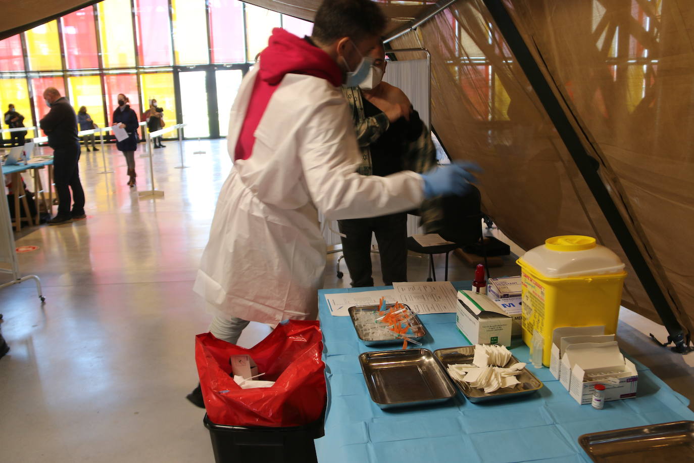
<svg viewBox="0 0 694 463"><path fill-rule="evenodd" d="M85 192L80 181L80 139L77 136L77 116L69 101L55 87L44 91L46 105L51 108L39 121L39 126L53 148L53 183L58 192L58 214L49 225L68 224L73 219L84 219ZM72 190L72 210L70 210Z"/></svg>

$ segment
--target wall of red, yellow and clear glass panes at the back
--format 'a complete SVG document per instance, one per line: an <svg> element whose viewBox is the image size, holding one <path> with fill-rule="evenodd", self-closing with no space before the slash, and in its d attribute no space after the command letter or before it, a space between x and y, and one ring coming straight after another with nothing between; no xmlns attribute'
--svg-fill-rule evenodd
<svg viewBox="0 0 694 463"><path fill-rule="evenodd" d="M280 26L312 29L239 0L102 0L0 41L0 105L14 103L35 124L53 86L105 126L124 93L140 118L155 98L167 125L189 124L187 137L226 136L248 64ZM208 85L217 90L209 101Z"/></svg>

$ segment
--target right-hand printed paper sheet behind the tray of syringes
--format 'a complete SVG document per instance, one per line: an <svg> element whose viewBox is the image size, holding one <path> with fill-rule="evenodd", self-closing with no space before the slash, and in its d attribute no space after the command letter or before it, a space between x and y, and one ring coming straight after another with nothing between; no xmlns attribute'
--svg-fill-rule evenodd
<svg viewBox="0 0 694 463"><path fill-rule="evenodd" d="M416 314L450 314L457 307L457 292L449 281L393 283L395 300Z"/></svg>

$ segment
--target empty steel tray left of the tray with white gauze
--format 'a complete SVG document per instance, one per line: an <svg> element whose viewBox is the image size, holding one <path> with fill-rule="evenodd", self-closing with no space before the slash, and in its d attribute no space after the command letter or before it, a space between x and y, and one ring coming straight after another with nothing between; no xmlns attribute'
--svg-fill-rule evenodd
<svg viewBox="0 0 694 463"><path fill-rule="evenodd" d="M381 408L432 404L455 396L446 371L428 349L359 355L371 400Z"/></svg>

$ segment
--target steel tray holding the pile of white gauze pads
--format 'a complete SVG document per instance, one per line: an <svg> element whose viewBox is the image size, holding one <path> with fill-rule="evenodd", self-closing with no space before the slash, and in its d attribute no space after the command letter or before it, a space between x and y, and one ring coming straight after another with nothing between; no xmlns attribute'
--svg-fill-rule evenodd
<svg viewBox="0 0 694 463"><path fill-rule="evenodd" d="M448 365L457 363L472 363L473 357L475 357L475 346L463 346L463 347L447 347L443 349L437 349L434 351L437 359L443 364L443 369L446 371L446 376L448 375ZM505 367L510 367L512 364L518 363L518 359L511 355L511 360ZM505 398L514 398L527 396L533 392L542 389L543 384L541 380L537 379L534 374L530 373L527 368L521 371L518 375L518 381L521 384L516 385L516 387L507 387L505 389L498 389L494 392L486 393L482 389L477 389L476 387L471 387L467 382L458 381L454 378L450 378L457 385L460 392L471 401L472 403L487 402L487 401L498 401Z"/></svg>

